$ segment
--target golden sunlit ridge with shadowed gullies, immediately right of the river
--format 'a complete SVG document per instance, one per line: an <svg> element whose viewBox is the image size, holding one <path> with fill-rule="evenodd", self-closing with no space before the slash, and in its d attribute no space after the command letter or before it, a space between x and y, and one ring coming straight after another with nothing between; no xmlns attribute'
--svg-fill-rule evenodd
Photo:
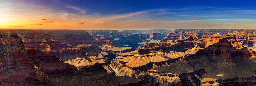
<svg viewBox="0 0 256 86"><path fill-rule="evenodd" d="M137 52L119 54L111 66L120 76L138 77L151 68L168 65L183 56L195 53L200 49L194 42L196 40L195 37L188 37L171 42L149 43Z"/></svg>

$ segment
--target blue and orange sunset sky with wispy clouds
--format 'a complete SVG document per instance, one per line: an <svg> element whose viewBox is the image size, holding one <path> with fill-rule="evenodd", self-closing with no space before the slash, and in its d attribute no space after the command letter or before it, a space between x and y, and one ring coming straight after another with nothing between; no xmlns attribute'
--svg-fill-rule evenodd
<svg viewBox="0 0 256 86"><path fill-rule="evenodd" d="M255 29L253 0L0 0L0 29Z"/></svg>

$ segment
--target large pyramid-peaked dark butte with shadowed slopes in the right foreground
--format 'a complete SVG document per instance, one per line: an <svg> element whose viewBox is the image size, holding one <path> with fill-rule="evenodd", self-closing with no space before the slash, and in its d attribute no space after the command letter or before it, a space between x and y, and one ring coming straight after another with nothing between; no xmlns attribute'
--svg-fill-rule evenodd
<svg viewBox="0 0 256 86"><path fill-rule="evenodd" d="M139 78L146 85L255 85L255 53L248 48L236 49L222 38L184 60L152 68ZM156 83L143 78L152 78Z"/></svg>

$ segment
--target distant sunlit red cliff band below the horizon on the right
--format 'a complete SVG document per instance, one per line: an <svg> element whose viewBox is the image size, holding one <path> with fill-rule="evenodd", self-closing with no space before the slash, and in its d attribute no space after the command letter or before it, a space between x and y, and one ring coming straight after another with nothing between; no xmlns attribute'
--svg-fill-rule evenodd
<svg viewBox="0 0 256 86"><path fill-rule="evenodd" d="M203 36L214 35L219 33L220 35L225 35L229 32L234 32L241 29L176 29L169 35L167 35L162 42L167 42L168 40L183 39L189 36L201 39Z"/></svg>

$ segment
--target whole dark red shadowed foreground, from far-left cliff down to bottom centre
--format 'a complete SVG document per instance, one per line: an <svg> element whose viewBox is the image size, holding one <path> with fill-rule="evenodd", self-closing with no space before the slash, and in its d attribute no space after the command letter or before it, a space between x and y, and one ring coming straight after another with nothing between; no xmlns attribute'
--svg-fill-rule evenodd
<svg viewBox="0 0 256 86"><path fill-rule="evenodd" d="M136 86L140 79L107 73L99 63L78 70L56 56L27 48L13 30L0 30L2 86Z"/></svg>

